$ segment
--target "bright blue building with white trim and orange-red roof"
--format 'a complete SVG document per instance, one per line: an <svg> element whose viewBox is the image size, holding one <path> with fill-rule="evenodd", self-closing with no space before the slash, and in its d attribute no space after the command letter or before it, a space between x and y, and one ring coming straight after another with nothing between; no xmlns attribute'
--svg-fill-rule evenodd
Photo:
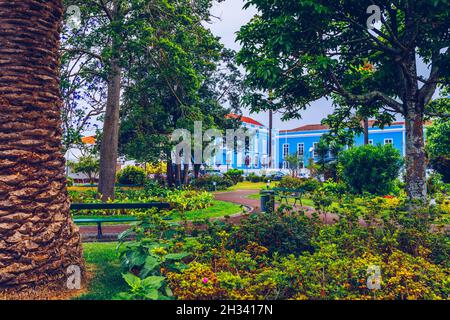
<svg viewBox="0 0 450 320"><path fill-rule="evenodd" d="M312 158L318 160L317 145L321 137L329 129L320 124L305 125L292 130L273 130L272 132L272 161L269 159L269 130L263 124L249 117L242 117L242 128L246 132L245 141L241 147L230 148L227 138L219 142L222 149L210 160L209 166L220 171L229 169L263 170L288 169L285 161L288 155L295 154L302 159L306 166ZM230 137L228 137L230 139ZM236 138L235 138L236 139ZM406 131L403 122L395 122L383 129L369 122L369 143L374 145L391 144L400 154L405 156ZM362 135L355 136L354 146L364 144ZM329 158L333 158L331 152ZM269 165L270 164L270 165Z"/></svg>

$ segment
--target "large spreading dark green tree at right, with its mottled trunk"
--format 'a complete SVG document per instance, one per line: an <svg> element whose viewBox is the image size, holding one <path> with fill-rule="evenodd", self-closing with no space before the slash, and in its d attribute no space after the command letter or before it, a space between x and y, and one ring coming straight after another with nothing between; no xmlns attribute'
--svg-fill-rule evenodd
<svg viewBox="0 0 450 320"><path fill-rule="evenodd" d="M425 201L424 117L437 86L450 76L449 1L376 4L381 27L371 29L369 0L247 1L259 13L238 36L252 90L246 103L293 118L310 102L331 97L353 110L365 108L366 118L381 123L403 116L407 194ZM417 58L429 65L426 77Z"/></svg>

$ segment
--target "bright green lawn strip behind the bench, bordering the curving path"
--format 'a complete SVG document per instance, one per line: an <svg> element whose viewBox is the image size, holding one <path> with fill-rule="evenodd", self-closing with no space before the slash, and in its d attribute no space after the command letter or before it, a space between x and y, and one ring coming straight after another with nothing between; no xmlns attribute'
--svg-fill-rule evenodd
<svg viewBox="0 0 450 320"><path fill-rule="evenodd" d="M213 200L213 205L206 209L199 209L199 210L192 210L186 212L186 218L188 220L202 220L202 219L208 219L208 218L217 218L217 217L224 217L227 215L233 215L236 213L242 212L242 208L240 205L229 203L229 202L223 202L223 201L217 201ZM76 219L102 219L105 218L104 215L76 215L74 218ZM127 215L116 215L114 218L117 219L125 219L130 218L130 216ZM173 221L180 221L182 220L182 217L180 214L175 214L172 216ZM112 223L105 223L105 225L108 224L117 224L117 222ZM124 224L129 224L127 222L124 222ZM85 224L80 224L85 225Z"/></svg>

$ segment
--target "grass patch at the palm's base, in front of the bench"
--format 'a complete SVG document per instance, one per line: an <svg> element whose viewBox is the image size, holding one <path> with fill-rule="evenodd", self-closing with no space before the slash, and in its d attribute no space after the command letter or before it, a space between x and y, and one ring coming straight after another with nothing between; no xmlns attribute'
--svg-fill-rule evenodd
<svg viewBox="0 0 450 320"><path fill-rule="evenodd" d="M88 292L77 300L110 300L128 286L120 273L117 242L85 243L84 258L91 275Z"/></svg>

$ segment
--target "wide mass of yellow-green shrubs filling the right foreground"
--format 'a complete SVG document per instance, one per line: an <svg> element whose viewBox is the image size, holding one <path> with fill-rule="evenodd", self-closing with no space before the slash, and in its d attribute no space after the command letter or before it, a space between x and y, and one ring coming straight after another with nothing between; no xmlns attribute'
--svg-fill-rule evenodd
<svg viewBox="0 0 450 320"><path fill-rule="evenodd" d="M181 273L169 272L168 283L177 298L189 300L447 299L447 236L430 231L434 214L410 215L401 201L391 206L387 205L390 200L366 200L367 225L358 223L356 206L344 205L336 224L316 224L318 229L306 237L312 250L304 247L296 252L292 246L283 252L286 242L265 240L264 223L251 235L256 235L256 242L232 245L257 221L242 227L209 228L193 247L194 262ZM273 229L271 222L268 229ZM293 228L295 233L298 230ZM262 241L278 253L268 255L271 250ZM374 268L381 271L378 290L369 287L373 283L369 270Z"/></svg>

